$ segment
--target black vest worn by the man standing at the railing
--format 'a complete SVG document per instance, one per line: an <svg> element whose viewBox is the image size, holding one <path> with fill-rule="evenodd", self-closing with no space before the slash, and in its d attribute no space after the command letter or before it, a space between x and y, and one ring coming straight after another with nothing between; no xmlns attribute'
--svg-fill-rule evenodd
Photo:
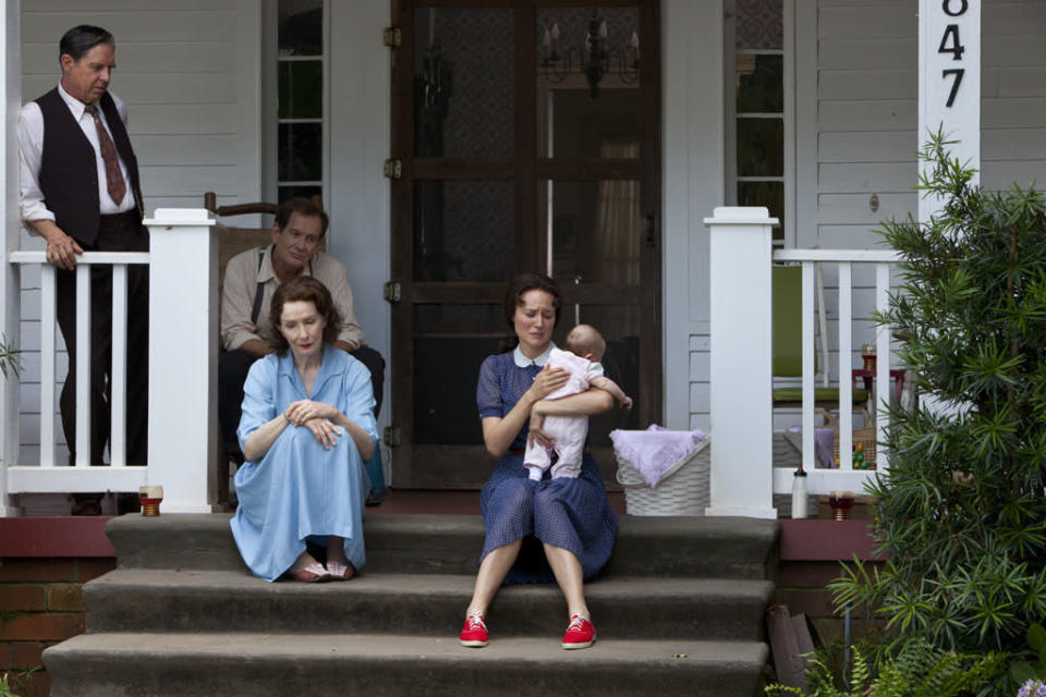
<svg viewBox="0 0 1046 697"><path fill-rule="evenodd" d="M39 184L44 204L54 213L54 222L65 234L81 244L93 244L98 237L101 217L98 203L98 170L95 149L73 119L69 106L56 87L36 100L44 114L44 150ZM106 93L98 100L106 115L117 151L131 175L131 191L136 200L138 161L131 148L131 138L120 119L112 96ZM119 201L118 201L119 203Z"/></svg>

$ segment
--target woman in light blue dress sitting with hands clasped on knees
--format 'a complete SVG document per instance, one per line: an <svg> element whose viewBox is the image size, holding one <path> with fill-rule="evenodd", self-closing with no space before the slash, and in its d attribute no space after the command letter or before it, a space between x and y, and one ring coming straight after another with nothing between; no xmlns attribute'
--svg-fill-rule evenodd
<svg viewBox="0 0 1046 697"><path fill-rule="evenodd" d="M247 462L236 472L232 534L256 576L348 580L363 567L364 462L377 428L370 375L332 345L338 310L319 281L297 277L272 296L275 353L244 384L236 435ZM306 541L327 548L327 565Z"/></svg>

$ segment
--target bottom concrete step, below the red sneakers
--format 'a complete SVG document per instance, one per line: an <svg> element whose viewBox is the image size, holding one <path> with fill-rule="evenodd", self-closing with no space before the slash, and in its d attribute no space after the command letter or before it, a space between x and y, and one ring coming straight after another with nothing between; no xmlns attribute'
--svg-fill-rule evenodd
<svg viewBox="0 0 1046 697"><path fill-rule="evenodd" d="M52 697L634 695L754 697L766 646L745 641L375 634L84 634L47 649Z"/></svg>

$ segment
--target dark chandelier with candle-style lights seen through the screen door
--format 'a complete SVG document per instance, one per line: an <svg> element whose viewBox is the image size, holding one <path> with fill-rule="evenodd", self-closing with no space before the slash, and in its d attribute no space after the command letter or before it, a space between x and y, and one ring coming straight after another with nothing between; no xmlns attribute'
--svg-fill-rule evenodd
<svg viewBox="0 0 1046 697"><path fill-rule="evenodd" d="M560 52L559 24L545 28L542 38L542 72L552 83L562 82L571 72L580 71L588 82L588 94L599 95L603 76L617 68L621 82L632 84L640 78L640 36L634 30L628 46L607 45L607 23L593 11L588 32L582 44L570 46ZM615 65L616 64L616 65Z"/></svg>

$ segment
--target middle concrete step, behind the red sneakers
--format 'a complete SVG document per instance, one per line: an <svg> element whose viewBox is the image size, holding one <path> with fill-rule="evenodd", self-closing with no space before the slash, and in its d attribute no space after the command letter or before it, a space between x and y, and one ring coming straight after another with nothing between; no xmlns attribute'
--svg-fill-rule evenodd
<svg viewBox="0 0 1046 697"><path fill-rule="evenodd" d="M270 584L246 572L120 568L84 588L90 632L309 632L453 637L472 575L364 573L346 583ZM608 577L585 585L607 638L758 640L765 580ZM508 586L491 631L555 637L567 604L554 584Z"/></svg>

